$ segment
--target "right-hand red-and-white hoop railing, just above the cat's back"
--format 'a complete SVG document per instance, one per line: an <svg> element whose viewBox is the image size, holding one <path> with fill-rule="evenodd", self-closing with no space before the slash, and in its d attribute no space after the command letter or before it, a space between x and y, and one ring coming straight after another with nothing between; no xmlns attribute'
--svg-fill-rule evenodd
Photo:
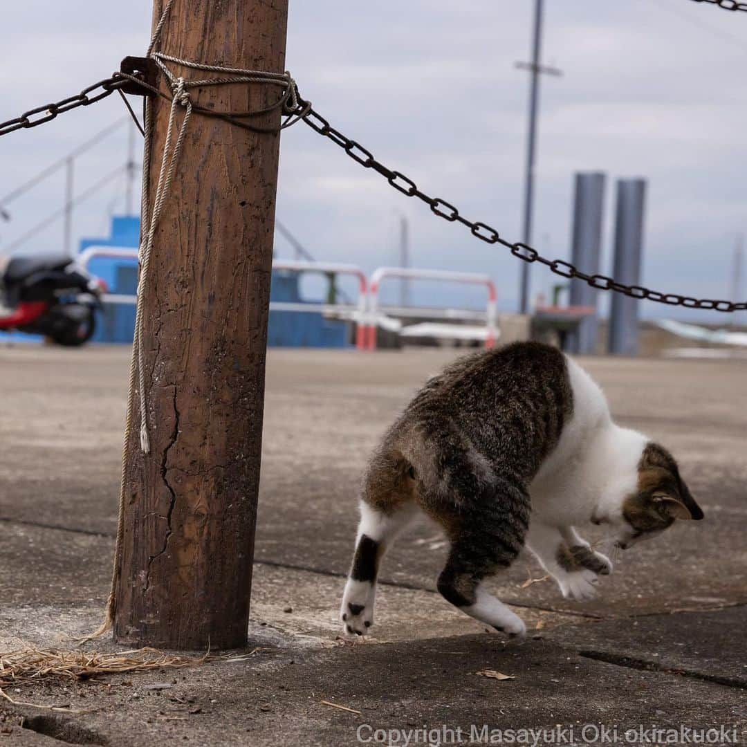
<svg viewBox="0 0 747 747"><path fill-rule="evenodd" d="M379 269L375 270L371 275L371 279L369 279L368 282L368 293L371 301L368 309L368 319L365 323L366 350L376 350L376 328L379 326L379 317L382 316L379 311L379 289L382 280L385 278L435 280L439 282L484 285L488 291L488 303L486 305L485 315L485 347L495 346L498 326L498 294L495 291L495 284L488 275L457 273L447 270L416 270L414 268L404 267L379 267ZM403 311L403 315L406 315L406 309L401 309L400 311Z"/></svg>

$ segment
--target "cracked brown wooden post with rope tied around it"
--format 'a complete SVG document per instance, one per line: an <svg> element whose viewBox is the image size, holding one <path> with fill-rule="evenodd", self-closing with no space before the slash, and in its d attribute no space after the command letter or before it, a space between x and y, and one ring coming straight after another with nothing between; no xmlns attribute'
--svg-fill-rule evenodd
<svg viewBox="0 0 747 747"><path fill-rule="evenodd" d="M154 24L161 9L155 0ZM160 51L282 72L287 19L288 0L174 0ZM190 95L216 111L247 111L276 101L279 90L232 84ZM153 97L151 105L152 208L169 103ZM279 116L276 109L255 124L276 126ZM217 649L247 641L279 137L190 120L142 299L151 451L141 453L134 427L117 642ZM138 414L135 397L136 423Z"/></svg>

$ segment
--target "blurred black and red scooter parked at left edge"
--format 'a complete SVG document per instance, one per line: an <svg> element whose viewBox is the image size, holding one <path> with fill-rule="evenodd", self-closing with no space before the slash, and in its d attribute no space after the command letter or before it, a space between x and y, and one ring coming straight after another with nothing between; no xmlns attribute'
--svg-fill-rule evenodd
<svg viewBox="0 0 747 747"><path fill-rule="evenodd" d="M45 335L66 346L86 343L105 292L68 255L0 258L0 330Z"/></svg>

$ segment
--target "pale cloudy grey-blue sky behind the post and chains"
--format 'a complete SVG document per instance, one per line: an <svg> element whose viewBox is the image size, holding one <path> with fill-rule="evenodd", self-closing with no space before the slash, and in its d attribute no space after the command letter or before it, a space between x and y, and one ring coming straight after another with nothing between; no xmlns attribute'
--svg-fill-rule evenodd
<svg viewBox="0 0 747 747"><path fill-rule="evenodd" d="M177 6L179 1L176 0ZM521 239L533 0L291 0L288 69L314 107L389 167L462 214ZM747 13L692 0L545 0L533 245L567 258L577 171L607 173L602 271L612 263L615 180L648 180L644 285L730 297L747 232ZM126 8L126 10L124 10ZM108 77L147 46L150 0L26 0L3 9L0 120ZM123 118L118 96L0 139L0 202ZM75 193L127 158L128 124L75 162ZM137 143L138 153L140 143ZM7 205L0 252L63 205L64 173ZM119 176L75 209L75 243L125 211ZM135 200L137 204L137 199ZM488 273L515 309L519 261L400 195L305 125L282 135L277 215L317 259L370 272L399 261L402 216L414 267ZM61 249L63 223L19 247ZM276 256L292 249L276 235ZM561 282L533 267L532 295ZM394 297L394 282L385 292ZM412 286L416 303L483 303L477 288ZM742 294L747 294L743 284ZM602 308L606 308L604 300ZM725 321L642 304L643 317Z"/></svg>

